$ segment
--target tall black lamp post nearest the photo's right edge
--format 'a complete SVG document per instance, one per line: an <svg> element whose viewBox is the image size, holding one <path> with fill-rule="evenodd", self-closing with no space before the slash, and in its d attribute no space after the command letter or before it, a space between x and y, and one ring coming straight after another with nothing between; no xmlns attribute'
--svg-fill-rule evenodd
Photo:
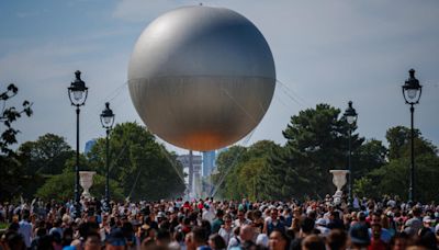
<svg viewBox="0 0 439 250"><path fill-rule="evenodd" d="M419 84L418 79L415 78L415 70L410 69L408 70L409 78L404 82L403 86L403 96L405 100L406 104L410 105L410 121L412 121L412 150L410 150L410 158L412 158L412 164L410 164L410 182L409 182L409 188L408 188L408 201L414 202L415 201L415 147L414 147L414 138L415 138L415 132L413 128L413 114L415 112L415 104L419 103L420 94L423 93L423 87Z"/></svg>

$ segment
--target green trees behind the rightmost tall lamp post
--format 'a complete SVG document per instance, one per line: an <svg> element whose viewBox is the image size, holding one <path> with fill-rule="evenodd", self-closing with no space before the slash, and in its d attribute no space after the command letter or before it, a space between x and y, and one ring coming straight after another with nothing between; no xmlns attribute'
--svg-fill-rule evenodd
<svg viewBox="0 0 439 250"><path fill-rule="evenodd" d="M385 194L407 197L410 171L410 130L403 126L387 129L389 162L382 167L370 169L365 175L356 180L354 190L359 194L380 197ZM439 201L439 195L432 186L439 178L439 157L437 147L423 138L419 130L415 132L415 197L420 202ZM381 146L374 148L381 148ZM383 151L374 150L374 151ZM383 156L382 154L378 154ZM373 163L372 163L373 164Z"/></svg>

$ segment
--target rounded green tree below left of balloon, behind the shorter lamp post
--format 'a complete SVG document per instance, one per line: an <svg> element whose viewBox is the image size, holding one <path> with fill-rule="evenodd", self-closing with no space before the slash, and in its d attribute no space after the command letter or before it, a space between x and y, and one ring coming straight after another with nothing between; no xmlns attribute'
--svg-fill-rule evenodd
<svg viewBox="0 0 439 250"><path fill-rule="evenodd" d="M104 138L98 139L88 159L91 169L105 174ZM136 123L117 124L110 134L110 178L133 200L173 197L185 189L177 156Z"/></svg>

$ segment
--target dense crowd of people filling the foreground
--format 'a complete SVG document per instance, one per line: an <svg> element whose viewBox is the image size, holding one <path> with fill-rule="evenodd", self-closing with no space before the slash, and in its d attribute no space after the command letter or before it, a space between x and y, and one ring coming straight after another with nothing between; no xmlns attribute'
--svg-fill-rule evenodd
<svg viewBox="0 0 439 250"><path fill-rule="evenodd" d="M354 198L0 204L0 250L437 249L439 206Z"/></svg>

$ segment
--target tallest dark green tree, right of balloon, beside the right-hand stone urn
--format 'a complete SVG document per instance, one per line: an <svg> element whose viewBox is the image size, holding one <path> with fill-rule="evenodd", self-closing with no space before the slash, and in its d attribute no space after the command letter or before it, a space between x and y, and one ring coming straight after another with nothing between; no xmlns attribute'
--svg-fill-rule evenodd
<svg viewBox="0 0 439 250"><path fill-rule="evenodd" d="M352 151L364 140L354 133L356 129L353 126ZM347 168L348 133L349 124L340 117L340 110L328 104L317 104L316 109L301 111L291 117L283 130L286 151L273 156L277 160L272 166L288 181L281 184L295 191L291 195L322 197L335 190L329 170Z"/></svg>

